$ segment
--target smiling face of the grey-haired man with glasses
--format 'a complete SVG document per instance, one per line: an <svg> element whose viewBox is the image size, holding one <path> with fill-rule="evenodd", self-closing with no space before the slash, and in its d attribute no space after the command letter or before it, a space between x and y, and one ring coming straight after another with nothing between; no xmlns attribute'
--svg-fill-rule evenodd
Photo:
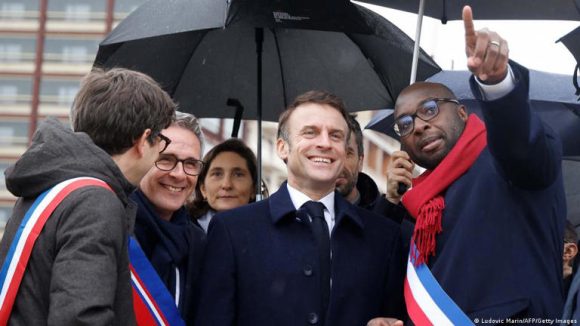
<svg viewBox="0 0 580 326"><path fill-rule="evenodd" d="M171 143L160 157L170 155L180 160L200 159L201 144L192 131L173 124L162 133L171 139ZM161 218L170 220L173 212L189 198L196 182L197 176L185 174L183 163L177 163L171 171L161 171L153 166L141 180L139 188Z"/></svg>

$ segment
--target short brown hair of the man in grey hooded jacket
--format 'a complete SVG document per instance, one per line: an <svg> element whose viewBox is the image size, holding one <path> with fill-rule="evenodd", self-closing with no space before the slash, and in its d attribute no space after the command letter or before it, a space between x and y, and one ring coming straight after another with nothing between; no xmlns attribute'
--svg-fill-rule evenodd
<svg viewBox="0 0 580 326"><path fill-rule="evenodd" d="M128 69L95 68L81 81L71 109L74 131L85 132L109 155L126 152L147 129L153 144L177 105L151 77Z"/></svg>

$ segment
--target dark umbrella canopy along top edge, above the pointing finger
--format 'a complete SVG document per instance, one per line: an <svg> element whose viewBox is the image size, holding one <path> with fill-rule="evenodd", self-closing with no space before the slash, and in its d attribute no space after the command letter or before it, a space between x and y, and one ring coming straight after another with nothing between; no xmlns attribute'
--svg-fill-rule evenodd
<svg viewBox="0 0 580 326"><path fill-rule="evenodd" d="M360 0L379 6L419 12L421 0ZM431 0L425 1L424 15L448 20L461 19L463 6L469 5L477 19L580 20L579 0Z"/></svg>

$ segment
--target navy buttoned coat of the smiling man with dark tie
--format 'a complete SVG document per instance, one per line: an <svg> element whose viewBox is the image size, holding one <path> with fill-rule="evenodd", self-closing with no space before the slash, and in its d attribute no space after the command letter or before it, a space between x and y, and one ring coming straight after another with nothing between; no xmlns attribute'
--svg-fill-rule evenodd
<svg viewBox="0 0 580 326"><path fill-rule="evenodd" d="M332 291L325 325L401 317L398 226L335 197ZM210 223L196 325L319 323L314 238L283 184L270 198L217 214Z"/></svg>

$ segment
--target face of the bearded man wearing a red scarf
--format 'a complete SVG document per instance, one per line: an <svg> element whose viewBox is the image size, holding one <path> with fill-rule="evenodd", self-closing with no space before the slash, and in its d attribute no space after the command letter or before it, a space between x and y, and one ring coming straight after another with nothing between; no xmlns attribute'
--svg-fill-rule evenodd
<svg viewBox="0 0 580 326"><path fill-rule="evenodd" d="M397 99L395 119L414 114L417 108L432 98L453 97L439 84L415 83L407 87ZM401 138L401 150L406 151L418 165L432 170L455 146L465 128L467 112L463 105L438 102L439 114L429 121L415 118L413 131Z"/></svg>

